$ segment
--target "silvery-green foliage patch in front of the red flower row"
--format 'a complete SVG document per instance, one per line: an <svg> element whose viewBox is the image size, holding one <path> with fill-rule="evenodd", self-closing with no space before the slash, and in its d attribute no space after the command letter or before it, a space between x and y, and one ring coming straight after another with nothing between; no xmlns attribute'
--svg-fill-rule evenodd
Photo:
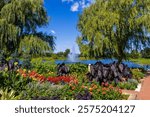
<svg viewBox="0 0 150 117"><path fill-rule="evenodd" d="M25 90L21 92L20 97L23 100L31 99L52 99L54 96L59 96L61 86L51 85L50 83L31 82Z"/></svg>

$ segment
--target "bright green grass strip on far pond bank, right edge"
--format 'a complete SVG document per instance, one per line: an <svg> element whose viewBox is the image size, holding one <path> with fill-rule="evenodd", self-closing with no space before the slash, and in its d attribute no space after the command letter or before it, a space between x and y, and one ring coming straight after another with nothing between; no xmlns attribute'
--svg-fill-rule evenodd
<svg viewBox="0 0 150 117"><path fill-rule="evenodd" d="M150 59L146 59L146 58L129 59L129 60L138 64L150 65Z"/></svg>

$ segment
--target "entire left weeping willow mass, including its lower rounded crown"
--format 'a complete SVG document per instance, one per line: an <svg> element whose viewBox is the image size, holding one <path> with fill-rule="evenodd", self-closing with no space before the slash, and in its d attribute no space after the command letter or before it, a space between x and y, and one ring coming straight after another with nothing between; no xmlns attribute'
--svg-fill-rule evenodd
<svg viewBox="0 0 150 117"><path fill-rule="evenodd" d="M54 50L54 37L38 33L47 25L43 0L0 1L0 49L7 56L14 51L44 54Z"/></svg>

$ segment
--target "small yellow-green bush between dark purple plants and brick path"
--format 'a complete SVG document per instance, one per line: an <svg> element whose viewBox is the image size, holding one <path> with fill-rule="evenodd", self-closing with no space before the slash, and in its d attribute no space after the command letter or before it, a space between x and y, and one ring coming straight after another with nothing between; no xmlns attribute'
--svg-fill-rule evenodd
<svg viewBox="0 0 150 117"><path fill-rule="evenodd" d="M132 72L132 78L136 79L138 82L140 82L140 79L142 79L145 74L140 69L131 69Z"/></svg>

